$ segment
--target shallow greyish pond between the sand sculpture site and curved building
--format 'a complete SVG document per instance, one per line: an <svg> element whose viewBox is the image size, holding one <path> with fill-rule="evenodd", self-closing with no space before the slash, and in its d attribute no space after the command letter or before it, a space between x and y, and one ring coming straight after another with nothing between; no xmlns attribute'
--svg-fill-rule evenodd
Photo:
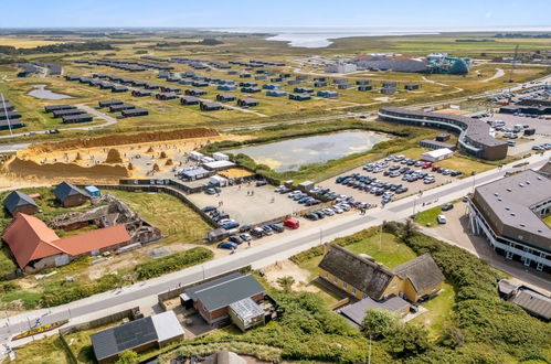
<svg viewBox="0 0 551 364"><path fill-rule="evenodd" d="M285 172L296 171L304 164L321 163L365 152L378 142L390 139L386 135L372 131L343 131L243 147L227 152L244 153L258 164L266 164L276 172Z"/></svg>

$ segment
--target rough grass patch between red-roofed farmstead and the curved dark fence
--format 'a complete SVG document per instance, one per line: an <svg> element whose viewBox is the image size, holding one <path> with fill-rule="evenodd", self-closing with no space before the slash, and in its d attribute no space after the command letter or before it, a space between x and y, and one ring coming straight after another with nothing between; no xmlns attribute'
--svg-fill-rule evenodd
<svg viewBox="0 0 551 364"><path fill-rule="evenodd" d="M108 193L126 202L144 220L159 227L168 236L168 243L199 243L210 231L209 224L201 216L169 194L117 190Z"/></svg>

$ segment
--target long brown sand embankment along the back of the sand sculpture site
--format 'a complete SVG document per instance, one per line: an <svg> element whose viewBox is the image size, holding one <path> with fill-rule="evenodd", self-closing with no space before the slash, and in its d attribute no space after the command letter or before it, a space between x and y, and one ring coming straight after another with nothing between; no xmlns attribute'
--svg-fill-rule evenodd
<svg viewBox="0 0 551 364"><path fill-rule="evenodd" d="M192 128L178 129L168 131L148 131L129 135L114 135L91 139L70 139L59 142L43 142L29 147L27 150L31 156L38 153L61 151L61 150L78 150L95 147L112 147L121 144L136 144L165 140L203 138L219 136L218 131L212 128Z"/></svg>

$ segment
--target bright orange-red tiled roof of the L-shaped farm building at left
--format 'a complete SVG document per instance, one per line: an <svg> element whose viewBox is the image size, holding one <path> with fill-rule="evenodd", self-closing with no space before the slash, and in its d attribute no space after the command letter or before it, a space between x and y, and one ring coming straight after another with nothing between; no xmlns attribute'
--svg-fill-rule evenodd
<svg viewBox="0 0 551 364"><path fill-rule="evenodd" d="M130 236L124 225L115 225L60 238L41 220L18 213L6 228L2 238L10 247L18 265L57 254L78 256L109 246L128 243Z"/></svg>

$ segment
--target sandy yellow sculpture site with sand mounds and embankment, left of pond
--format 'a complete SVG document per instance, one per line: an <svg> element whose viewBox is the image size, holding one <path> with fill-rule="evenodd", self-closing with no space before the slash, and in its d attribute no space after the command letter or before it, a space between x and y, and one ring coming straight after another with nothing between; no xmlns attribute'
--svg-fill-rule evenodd
<svg viewBox="0 0 551 364"><path fill-rule="evenodd" d="M32 185L61 180L115 183L125 178L161 179L186 165L189 152L230 139L247 137L195 128L39 143L3 163L6 181L0 179L0 184L19 185L22 179Z"/></svg>

